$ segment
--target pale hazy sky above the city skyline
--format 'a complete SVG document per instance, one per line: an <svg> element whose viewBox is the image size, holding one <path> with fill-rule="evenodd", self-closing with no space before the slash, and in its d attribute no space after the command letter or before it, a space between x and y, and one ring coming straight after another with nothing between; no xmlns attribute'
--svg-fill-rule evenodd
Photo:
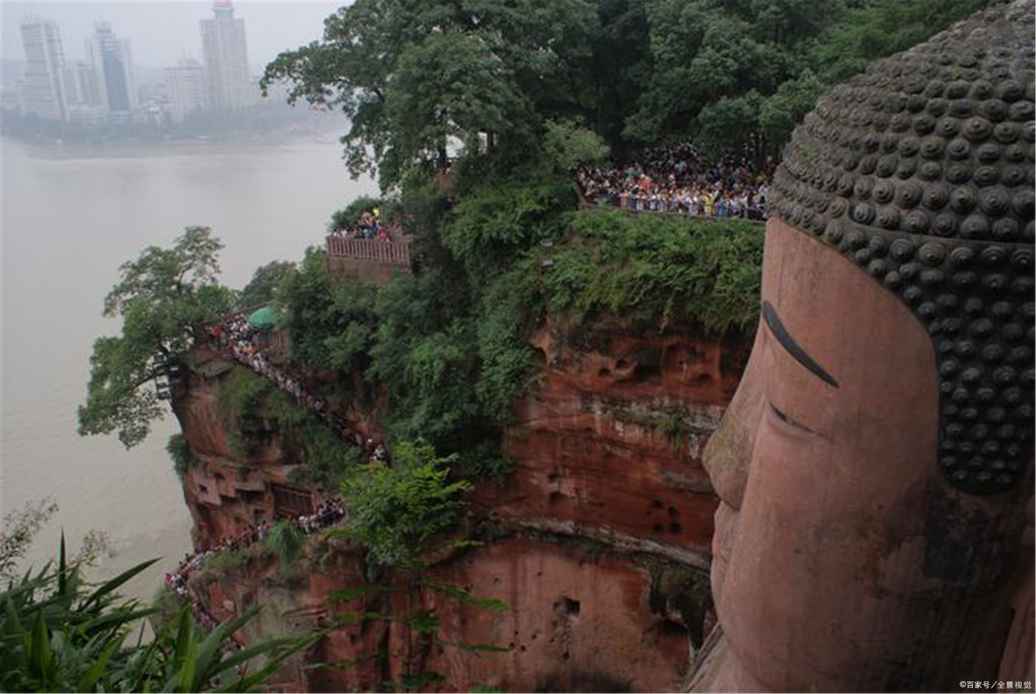
<svg viewBox="0 0 1036 694"><path fill-rule="evenodd" d="M323 20L348 1L235 0L234 17L244 20L249 63L265 65L279 52L319 38ZM135 67L165 67L182 56L201 61L198 21L212 17L211 0L146 2L26 2L2 0L2 54L24 60L19 22L23 15L50 19L61 30L65 60L85 58L83 42L93 33L93 23L107 20L120 37L131 40Z"/></svg>

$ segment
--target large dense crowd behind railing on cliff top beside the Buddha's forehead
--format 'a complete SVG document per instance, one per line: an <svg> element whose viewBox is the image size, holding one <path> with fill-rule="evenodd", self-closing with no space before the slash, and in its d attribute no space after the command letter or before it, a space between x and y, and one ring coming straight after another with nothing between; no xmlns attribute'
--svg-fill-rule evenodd
<svg viewBox="0 0 1036 694"><path fill-rule="evenodd" d="M711 162L691 143L657 146L626 167L581 167L576 182L587 201L633 212L762 221L773 167L752 158L746 150Z"/></svg>

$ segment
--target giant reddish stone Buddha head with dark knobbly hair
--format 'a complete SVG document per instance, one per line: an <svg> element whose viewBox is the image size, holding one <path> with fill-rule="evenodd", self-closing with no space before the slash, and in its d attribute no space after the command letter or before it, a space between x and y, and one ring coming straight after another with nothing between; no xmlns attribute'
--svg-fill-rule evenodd
<svg viewBox="0 0 1036 694"><path fill-rule="evenodd" d="M1032 0L822 98L706 464L714 685L938 689L987 644L1033 485Z"/></svg>

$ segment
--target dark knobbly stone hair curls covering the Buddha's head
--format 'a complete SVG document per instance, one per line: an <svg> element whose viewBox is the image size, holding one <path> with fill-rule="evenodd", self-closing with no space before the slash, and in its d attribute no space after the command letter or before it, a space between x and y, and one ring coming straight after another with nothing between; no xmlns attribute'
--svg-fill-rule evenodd
<svg viewBox="0 0 1036 694"><path fill-rule="evenodd" d="M939 466L1004 491L1033 458L1033 5L978 12L836 87L796 128L775 216L926 326Z"/></svg>

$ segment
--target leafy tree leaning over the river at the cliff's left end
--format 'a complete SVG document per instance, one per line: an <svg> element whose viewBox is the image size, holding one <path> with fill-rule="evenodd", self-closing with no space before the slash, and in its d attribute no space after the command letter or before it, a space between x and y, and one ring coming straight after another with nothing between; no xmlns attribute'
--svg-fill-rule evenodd
<svg viewBox="0 0 1036 694"><path fill-rule="evenodd" d="M105 316L122 319L122 334L98 338L90 357L79 433L110 434L132 447L147 436L163 407L150 382L153 358L175 360L194 342L194 329L226 313L233 292L217 284L223 243L207 227L189 227L172 248L149 247L119 268L105 297Z"/></svg>

